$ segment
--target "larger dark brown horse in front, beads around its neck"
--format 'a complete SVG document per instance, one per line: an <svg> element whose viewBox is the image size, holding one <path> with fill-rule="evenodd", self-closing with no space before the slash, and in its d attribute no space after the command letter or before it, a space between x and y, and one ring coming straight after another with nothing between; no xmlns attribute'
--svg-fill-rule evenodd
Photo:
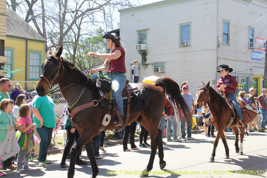
<svg viewBox="0 0 267 178"><path fill-rule="evenodd" d="M39 96L45 96L54 84L59 84L61 92L69 103L73 101L79 93L85 88L82 97L74 104L74 107L69 108L69 112L77 106L86 104L93 100L97 100L96 81L85 76L79 69L77 69L72 63L61 57L62 47L55 52L49 50L47 52L47 58L42 63L42 75L39 78L36 91ZM75 83L76 82L76 83ZM74 84L73 84L74 83ZM69 86L70 84L73 84ZM184 113L189 113L186 103L180 94L179 85L169 77L160 77L155 85L149 83L141 83L144 86L150 99L146 101L146 112L139 112L136 110L130 110L130 117L128 123L132 123L137 120L137 117L141 116L143 125L150 133L151 139L151 154L147 167L142 171L140 177L147 177L148 172L153 168L153 162L158 147L158 156L160 158L160 169L166 166L166 161L163 160L163 144L161 130L158 128L161 115L165 106L165 92L172 102L180 105L179 110ZM66 88L65 88L66 87ZM162 87L163 92L158 88ZM91 177L96 177L98 174L98 167L96 159L94 157L94 151L92 147L93 136L99 133L99 128L104 115L107 113L107 108L101 108L98 105L89 107L79 111L72 119L77 125L77 130L80 134L79 139L74 143L71 148L71 160L68 171L68 178L74 176L75 158L79 153L79 150L85 145L87 155L89 157L92 166ZM126 113L126 108L124 109ZM125 116L124 116L125 118ZM123 119L124 119L123 118ZM115 127L113 121L107 125L105 130L115 130L120 127Z"/></svg>

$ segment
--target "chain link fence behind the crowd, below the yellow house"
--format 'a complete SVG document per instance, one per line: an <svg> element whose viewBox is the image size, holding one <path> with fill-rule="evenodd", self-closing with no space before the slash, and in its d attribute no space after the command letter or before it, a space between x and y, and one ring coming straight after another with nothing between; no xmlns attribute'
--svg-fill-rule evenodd
<svg viewBox="0 0 267 178"><path fill-rule="evenodd" d="M22 86L22 89L25 90L28 93L28 95L30 97L30 101L32 101L31 92L36 90L35 88L37 86L37 82L38 81L11 81L11 84L14 87L14 85L16 83L19 83ZM53 88L56 88L57 86L58 86L58 84L54 85ZM12 88L12 90L13 90L13 88ZM11 90L11 92L9 92L9 94L12 93L12 90ZM53 94L51 94L49 96L52 98L52 100L53 100L53 102L55 104L55 107L54 107L55 116L62 115L63 112L64 112L64 106L66 104L66 100L63 97L62 93L61 92L56 92L56 93L53 93Z"/></svg>

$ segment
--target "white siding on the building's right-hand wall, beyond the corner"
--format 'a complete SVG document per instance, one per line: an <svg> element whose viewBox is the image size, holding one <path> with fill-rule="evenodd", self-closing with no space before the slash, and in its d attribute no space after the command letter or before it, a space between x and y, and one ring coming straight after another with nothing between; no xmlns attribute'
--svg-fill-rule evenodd
<svg viewBox="0 0 267 178"><path fill-rule="evenodd" d="M218 64L229 64L234 69L233 72L242 74L263 75L264 58L261 61L251 59L251 51L258 51L264 53L262 50L249 49L248 47L248 29L249 26L255 28L255 37L266 39L267 28L265 28L266 18L266 4L259 1L253 1L256 6L245 1L220 0L219 1L219 23L218 35L222 36L222 22L223 20L230 21L230 45L221 45L218 48ZM231 5L229 5L231 4ZM263 7L260 7L263 6ZM262 18L261 20L259 20ZM256 22L259 20L258 22ZM256 22L256 23L255 23ZM221 41L222 44L222 41Z"/></svg>

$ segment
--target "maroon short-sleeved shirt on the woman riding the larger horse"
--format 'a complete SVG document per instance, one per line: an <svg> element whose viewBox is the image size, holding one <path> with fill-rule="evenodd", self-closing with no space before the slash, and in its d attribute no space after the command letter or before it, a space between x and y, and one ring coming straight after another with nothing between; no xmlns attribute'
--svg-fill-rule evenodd
<svg viewBox="0 0 267 178"><path fill-rule="evenodd" d="M116 50L120 50L121 56L117 59L111 59L110 60L108 72L124 72L124 73L126 73L125 51L121 47L117 47L114 50L114 52ZM108 59L106 59L105 62L107 63L107 66L108 66Z"/></svg>

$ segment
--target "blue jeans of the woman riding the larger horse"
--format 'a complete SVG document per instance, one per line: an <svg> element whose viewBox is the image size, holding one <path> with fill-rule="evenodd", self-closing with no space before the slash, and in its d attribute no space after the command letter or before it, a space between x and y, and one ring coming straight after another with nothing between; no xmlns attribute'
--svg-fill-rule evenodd
<svg viewBox="0 0 267 178"><path fill-rule="evenodd" d="M115 102L117 108L120 112L120 115L123 117L123 99L121 92L126 84L126 75L125 74L114 74L108 75L109 78L112 79L112 87L114 90Z"/></svg>

